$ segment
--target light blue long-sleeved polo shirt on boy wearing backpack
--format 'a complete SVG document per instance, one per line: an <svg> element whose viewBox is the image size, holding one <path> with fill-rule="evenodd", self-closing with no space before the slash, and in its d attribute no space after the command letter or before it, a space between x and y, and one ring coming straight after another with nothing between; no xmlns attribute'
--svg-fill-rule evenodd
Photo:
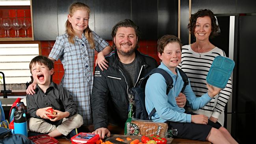
<svg viewBox="0 0 256 144"><path fill-rule="evenodd" d="M175 100L184 85L178 69L176 68L177 75L174 75L163 63L158 68L162 68L171 75L173 78L173 88L166 95L167 85L161 74L155 73L148 78L145 88L145 105L148 114L155 107L156 113L151 117L155 119L153 120L154 122L165 122L167 120L172 122L191 122L191 114L184 113L185 109L178 107ZM183 93L186 95L189 107L193 110L200 109L212 99L208 93L203 94L201 97L196 97L191 89L190 83L186 86Z"/></svg>

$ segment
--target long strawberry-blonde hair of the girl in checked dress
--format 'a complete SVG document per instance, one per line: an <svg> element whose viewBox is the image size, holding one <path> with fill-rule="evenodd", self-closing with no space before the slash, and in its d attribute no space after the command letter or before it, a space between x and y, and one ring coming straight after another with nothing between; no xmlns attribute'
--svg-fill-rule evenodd
<svg viewBox="0 0 256 144"><path fill-rule="evenodd" d="M74 12L77 11L78 9L85 10L90 15L90 8L89 8L89 6L87 6L86 4L83 4L81 2L76 2L76 3L72 4L69 7L69 15L70 15L70 17L72 17ZM74 44L74 37L75 37L76 34L75 34L75 32L74 32L74 30L72 28L71 23L69 22L69 19L67 19L65 26L66 26L66 33L69 35L68 36L69 42ZM83 33L84 33L85 37L88 39L91 48L95 48L94 39L92 37L92 31L90 30L89 26L87 26L87 28L85 30L83 30Z"/></svg>

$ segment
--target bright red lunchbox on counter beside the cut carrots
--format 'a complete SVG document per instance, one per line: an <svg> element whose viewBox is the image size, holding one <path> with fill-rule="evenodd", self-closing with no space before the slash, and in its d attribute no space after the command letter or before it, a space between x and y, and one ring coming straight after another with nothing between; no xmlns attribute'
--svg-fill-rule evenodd
<svg viewBox="0 0 256 144"><path fill-rule="evenodd" d="M78 133L71 138L72 144L95 144L100 139L98 134L93 133Z"/></svg>

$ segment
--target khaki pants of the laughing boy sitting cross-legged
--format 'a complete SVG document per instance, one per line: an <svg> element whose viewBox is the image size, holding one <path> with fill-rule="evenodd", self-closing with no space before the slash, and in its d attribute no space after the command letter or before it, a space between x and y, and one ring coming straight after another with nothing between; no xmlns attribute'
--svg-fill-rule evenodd
<svg viewBox="0 0 256 144"><path fill-rule="evenodd" d="M75 114L69 118L63 118L62 124L58 127L45 122L44 119L30 118L28 120L28 129L37 133L50 133L57 129L62 135L67 136L70 131L83 125L83 118L80 114Z"/></svg>

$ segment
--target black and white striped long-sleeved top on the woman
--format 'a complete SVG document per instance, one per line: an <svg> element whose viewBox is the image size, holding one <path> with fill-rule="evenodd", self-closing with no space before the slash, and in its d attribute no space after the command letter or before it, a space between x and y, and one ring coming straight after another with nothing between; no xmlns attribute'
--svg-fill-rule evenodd
<svg viewBox="0 0 256 144"><path fill-rule="evenodd" d="M191 49L191 45L182 47L182 61L178 68L181 68L187 74L192 90L195 92L196 96L202 96L202 94L208 91L206 87L206 76L213 59L218 55L226 56L224 51L217 47L202 54L194 52ZM218 122L223 126L224 108L228 102L231 92L232 81L229 79L226 87L221 90L219 95L215 96L215 98L213 98L206 106L193 112L197 114L204 114L208 117L213 116L218 118Z"/></svg>

